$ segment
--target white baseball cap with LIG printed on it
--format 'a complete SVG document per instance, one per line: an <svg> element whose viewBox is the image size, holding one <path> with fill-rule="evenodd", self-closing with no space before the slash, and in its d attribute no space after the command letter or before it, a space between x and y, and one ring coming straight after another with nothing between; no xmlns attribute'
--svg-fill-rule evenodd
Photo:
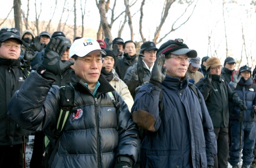
<svg viewBox="0 0 256 168"><path fill-rule="evenodd" d="M73 55L77 55L79 57L84 57L87 54L99 50L101 54L105 54L106 52L100 48L100 44L98 41L89 38L83 37L74 41L69 49L69 58Z"/></svg>

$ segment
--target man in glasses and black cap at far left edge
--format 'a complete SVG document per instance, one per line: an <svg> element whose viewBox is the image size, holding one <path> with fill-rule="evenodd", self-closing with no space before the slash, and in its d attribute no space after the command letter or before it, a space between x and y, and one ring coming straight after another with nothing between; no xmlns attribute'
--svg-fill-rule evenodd
<svg viewBox="0 0 256 168"><path fill-rule="evenodd" d="M20 57L22 40L16 28L2 29L0 35L0 167L23 167L24 130L7 115L7 105L28 77L28 66ZM15 104L12 104L15 106ZM27 135L28 136L28 132Z"/></svg>

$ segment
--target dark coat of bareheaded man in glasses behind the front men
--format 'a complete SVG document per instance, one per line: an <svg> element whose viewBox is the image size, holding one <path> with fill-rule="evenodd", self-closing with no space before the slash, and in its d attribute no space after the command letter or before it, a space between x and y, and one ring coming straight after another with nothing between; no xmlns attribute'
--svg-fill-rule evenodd
<svg viewBox="0 0 256 168"><path fill-rule="evenodd" d="M117 59L115 70L121 80L124 80L124 75L130 66L138 62L137 55L129 56L127 53L120 59Z"/></svg>

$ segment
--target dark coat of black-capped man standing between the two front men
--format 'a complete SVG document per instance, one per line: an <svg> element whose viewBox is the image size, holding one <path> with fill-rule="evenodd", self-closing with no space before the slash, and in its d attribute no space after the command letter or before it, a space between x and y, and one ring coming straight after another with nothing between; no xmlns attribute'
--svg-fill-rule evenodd
<svg viewBox="0 0 256 168"><path fill-rule="evenodd" d="M136 67L137 69L138 63L135 63L133 66ZM134 80L132 78L132 68L133 66L130 66L124 76L124 82L128 86L128 89L130 90L131 95L135 93L135 89L139 86L139 81ZM143 62L143 71L144 71L144 77L143 77L143 82L149 82L150 77L151 77L151 72L149 71L148 68L146 68L145 63ZM136 74L137 72L135 72Z"/></svg>

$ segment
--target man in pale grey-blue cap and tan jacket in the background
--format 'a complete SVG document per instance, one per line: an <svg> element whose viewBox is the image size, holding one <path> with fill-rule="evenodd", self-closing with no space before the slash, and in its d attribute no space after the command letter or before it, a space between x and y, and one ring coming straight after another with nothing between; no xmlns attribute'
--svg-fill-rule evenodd
<svg viewBox="0 0 256 168"><path fill-rule="evenodd" d="M201 78L204 78L203 73L197 71L199 68L201 68L200 57L197 56L195 58L191 58L186 73L189 79L194 79L194 82L192 83L194 83L195 85ZM189 81L191 82L191 80Z"/></svg>

